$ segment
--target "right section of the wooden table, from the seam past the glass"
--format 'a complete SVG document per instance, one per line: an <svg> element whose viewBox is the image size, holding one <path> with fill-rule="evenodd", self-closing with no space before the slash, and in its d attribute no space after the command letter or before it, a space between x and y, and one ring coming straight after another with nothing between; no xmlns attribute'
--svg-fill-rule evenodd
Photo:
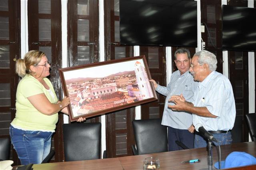
<svg viewBox="0 0 256 170"><path fill-rule="evenodd" d="M244 142L231 145L221 146L221 160L225 160L232 151L244 151L256 156L256 142ZM208 152L206 148L196 148L179 150L172 152L162 152L156 154L145 154L137 156L127 156L119 158L124 170L142 170L143 160L147 157L157 157L160 160L161 170L200 170L208 169L207 158ZM218 161L217 149L212 147L213 164ZM200 159L196 163L181 163L185 160ZM254 167L255 168L255 167ZM215 169L215 168L213 168ZM255 168L256 170L256 168Z"/></svg>

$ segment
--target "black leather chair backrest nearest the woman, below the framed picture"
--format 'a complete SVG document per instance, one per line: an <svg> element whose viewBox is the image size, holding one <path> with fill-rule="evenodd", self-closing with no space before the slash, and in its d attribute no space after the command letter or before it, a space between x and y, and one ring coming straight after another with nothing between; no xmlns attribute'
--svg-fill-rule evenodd
<svg viewBox="0 0 256 170"><path fill-rule="evenodd" d="M63 124L65 161L100 158L101 123Z"/></svg>

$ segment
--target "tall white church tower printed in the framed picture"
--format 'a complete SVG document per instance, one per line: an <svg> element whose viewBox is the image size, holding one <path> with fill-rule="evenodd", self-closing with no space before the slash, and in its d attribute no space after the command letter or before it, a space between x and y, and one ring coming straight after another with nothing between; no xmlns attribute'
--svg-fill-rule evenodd
<svg viewBox="0 0 256 170"><path fill-rule="evenodd" d="M144 66L138 61L136 61L134 66L136 80L138 84L138 88L140 90L140 98L139 100L152 98L152 90L150 89L150 83L148 80L148 75L146 74Z"/></svg>

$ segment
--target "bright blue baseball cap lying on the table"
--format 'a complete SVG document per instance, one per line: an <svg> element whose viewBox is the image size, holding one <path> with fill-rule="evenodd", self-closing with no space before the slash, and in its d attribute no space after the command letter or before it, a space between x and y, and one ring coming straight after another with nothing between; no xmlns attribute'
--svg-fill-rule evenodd
<svg viewBox="0 0 256 170"><path fill-rule="evenodd" d="M256 158L246 152L231 152L226 160L220 162L221 168L233 168L237 166L247 166L256 164ZM219 162L214 164L216 169L219 169Z"/></svg>

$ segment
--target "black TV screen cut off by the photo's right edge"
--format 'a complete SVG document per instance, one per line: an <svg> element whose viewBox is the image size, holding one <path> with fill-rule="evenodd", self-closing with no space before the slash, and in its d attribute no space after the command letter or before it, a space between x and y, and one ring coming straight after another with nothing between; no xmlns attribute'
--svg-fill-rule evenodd
<svg viewBox="0 0 256 170"><path fill-rule="evenodd" d="M222 5L222 50L256 50L256 8Z"/></svg>

